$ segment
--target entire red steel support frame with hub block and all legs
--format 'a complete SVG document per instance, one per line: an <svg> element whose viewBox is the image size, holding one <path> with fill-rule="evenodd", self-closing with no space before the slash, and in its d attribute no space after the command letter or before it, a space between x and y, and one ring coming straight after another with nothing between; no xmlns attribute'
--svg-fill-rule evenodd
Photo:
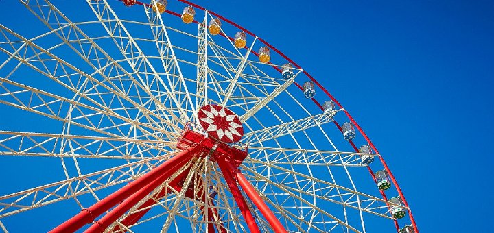
<svg viewBox="0 0 494 233"><path fill-rule="evenodd" d="M76 214L74 217L65 221L50 232L75 232L76 230L82 228L82 226L93 221L93 225L91 225L86 232L104 232L106 228L117 221L123 214L128 212L130 208L138 204L139 201L148 196L152 191L158 188L158 186L168 180L169 177L172 177L172 175L184 167L185 164L191 162L198 154L202 154L203 156L208 154L208 156L211 156L213 161L217 162L218 167L220 167L220 170L222 171L226 184L228 185L237 206L239 206L242 216L246 220L250 232L260 233L259 226L257 225L256 219L252 215L252 212L250 212L248 204L237 186L237 182L239 182L242 189L244 189L244 192L248 195L248 197L250 197L250 199L252 199L252 202L257 206L257 208L259 208L263 216L266 217L272 229L275 232L286 232L283 225L281 225L279 220L274 216L273 212L271 212L261 197L259 197L252 184L250 184L244 175L242 175L242 173L240 173L237 169L237 167L247 156L246 148L244 150L236 149L226 145L225 143L216 141L213 138L207 138L200 132L193 131L189 125L186 125L185 129L180 134L177 147L183 148L183 151L155 169L152 169L152 171L137 178L137 180L134 180L130 184L120 188L115 193L112 193L108 197L98 201L93 206L82 210L82 212ZM182 187L178 186L178 183L183 181L184 177L186 177L189 172L190 167L179 173L172 181L169 182L169 185L176 188L177 191L181 191ZM202 184L200 176L196 178L197 180L194 182L199 182L198 186L202 186L200 185ZM207 199L204 196L206 195L204 188L200 188L198 193L191 191L189 186L185 188L187 188L187 190L183 191L185 192L185 196L193 199L198 199L199 197L204 203L206 203ZM169 192L165 191L166 189L167 188L162 188L161 191L155 195L155 197L163 197L167 195ZM200 193L204 193L204 195L201 196ZM119 203L120 201L121 203ZM150 206L152 206L154 202L154 199L148 199L148 201L145 201L141 206L139 206L139 208L143 208L143 210L130 214L128 217L124 218L121 223L126 226L136 223L150 210ZM104 217L95 221L99 215L103 214L115 205L117 206L110 210L110 212L108 212ZM214 204L211 203L211 206L214 206ZM203 211L204 206L200 209ZM214 217L216 217L216 219L220 218L217 211L213 208L208 208L204 211L207 212L207 220L210 222L215 221ZM203 216L205 218L204 214ZM209 233L215 232L213 223L208 223L207 228ZM113 229L119 230L120 226L116 226ZM218 232L226 233L226 229L222 226L217 226L217 230Z"/></svg>

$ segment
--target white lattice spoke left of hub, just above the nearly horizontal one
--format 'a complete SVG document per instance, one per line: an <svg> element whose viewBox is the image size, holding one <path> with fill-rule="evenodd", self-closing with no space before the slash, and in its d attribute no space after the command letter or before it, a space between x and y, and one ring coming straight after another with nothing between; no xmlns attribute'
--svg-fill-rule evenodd
<svg viewBox="0 0 494 233"><path fill-rule="evenodd" d="M115 132L116 130L117 134L113 135L125 135L121 127L137 127L148 136L153 136L148 130L163 132L161 128L128 119L109 109L95 108L2 77L0 77L0 87L0 90L3 90L0 91L0 103L64 122L67 122L65 114L70 112L70 123L97 132ZM170 138L176 137L176 134L167 132L165 134ZM161 140L161 138L156 137L156 140Z"/></svg>

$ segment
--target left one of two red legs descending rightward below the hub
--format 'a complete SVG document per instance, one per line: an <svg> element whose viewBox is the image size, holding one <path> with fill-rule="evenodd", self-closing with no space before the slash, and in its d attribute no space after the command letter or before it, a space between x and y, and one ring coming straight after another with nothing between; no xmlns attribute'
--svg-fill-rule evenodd
<svg viewBox="0 0 494 233"><path fill-rule="evenodd" d="M255 219L247 206L247 202L242 196L242 193L240 193L237 182L235 182L235 179L233 178L230 165L224 159L217 160L217 164L223 173L223 177L226 181L226 184L228 184L228 188L230 188L230 192L237 202L237 206L239 206L240 208L240 212L242 212L242 216L244 216L244 219L247 222L247 226L250 232L260 233L259 227L257 226L257 223L255 222Z"/></svg>

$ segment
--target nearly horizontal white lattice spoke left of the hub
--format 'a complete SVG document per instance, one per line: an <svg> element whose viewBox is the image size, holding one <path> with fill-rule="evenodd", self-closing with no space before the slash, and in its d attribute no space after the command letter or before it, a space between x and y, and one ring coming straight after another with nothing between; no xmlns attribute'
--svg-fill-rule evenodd
<svg viewBox="0 0 494 233"><path fill-rule="evenodd" d="M66 143L71 149L64 151ZM66 134L0 131L0 156L43 156L68 158L116 158L141 160L155 157L174 142L135 138L106 138ZM143 147L140 149L137 147Z"/></svg>

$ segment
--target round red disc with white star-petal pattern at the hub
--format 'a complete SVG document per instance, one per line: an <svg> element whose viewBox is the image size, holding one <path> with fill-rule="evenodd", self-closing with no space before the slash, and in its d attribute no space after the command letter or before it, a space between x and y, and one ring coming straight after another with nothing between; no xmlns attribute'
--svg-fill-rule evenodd
<svg viewBox="0 0 494 233"><path fill-rule="evenodd" d="M238 116L228 108L209 104L198 112L199 123L209 136L224 143L236 143L244 136Z"/></svg>

